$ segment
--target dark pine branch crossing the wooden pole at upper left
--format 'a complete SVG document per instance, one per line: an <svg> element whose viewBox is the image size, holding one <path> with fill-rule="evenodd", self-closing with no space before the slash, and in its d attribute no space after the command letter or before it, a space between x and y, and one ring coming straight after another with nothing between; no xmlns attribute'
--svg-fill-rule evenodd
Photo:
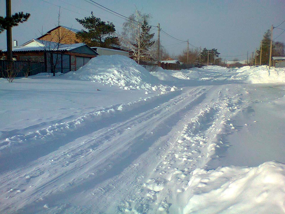
<svg viewBox="0 0 285 214"><path fill-rule="evenodd" d="M19 23L23 23L29 19L31 14L18 12L13 14L11 17L0 16L0 33L7 30L9 27L18 26Z"/></svg>

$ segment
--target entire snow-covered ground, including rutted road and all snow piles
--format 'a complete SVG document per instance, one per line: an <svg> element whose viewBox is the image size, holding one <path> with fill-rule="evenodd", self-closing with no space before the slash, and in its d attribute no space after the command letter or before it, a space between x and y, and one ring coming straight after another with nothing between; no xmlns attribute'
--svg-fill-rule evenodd
<svg viewBox="0 0 285 214"><path fill-rule="evenodd" d="M0 213L285 213L284 68L100 56L0 97Z"/></svg>

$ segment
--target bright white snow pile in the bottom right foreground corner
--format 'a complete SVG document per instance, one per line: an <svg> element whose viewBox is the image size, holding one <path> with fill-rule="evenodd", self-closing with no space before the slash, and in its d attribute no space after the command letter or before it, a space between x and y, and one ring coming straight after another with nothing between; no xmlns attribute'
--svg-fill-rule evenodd
<svg viewBox="0 0 285 214"><path fill-rule="evenodd" d="M253 168L197 168L183 213L284 213L284 184L285 164L275 161Z"/></svg>

